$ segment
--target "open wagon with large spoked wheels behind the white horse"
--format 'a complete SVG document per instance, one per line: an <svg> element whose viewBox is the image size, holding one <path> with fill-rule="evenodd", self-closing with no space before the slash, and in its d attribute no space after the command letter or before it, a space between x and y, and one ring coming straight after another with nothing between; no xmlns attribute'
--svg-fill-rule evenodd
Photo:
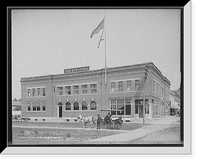
<svg viewBox="0 0 200 163"><path fill-rule="evenodd" d="M121 117L115 120L111 120L110 123L106 123L105 120L101 121L101 128L102 129L115 129L115 130L121 130L123 127L123 120Z"/></svg>

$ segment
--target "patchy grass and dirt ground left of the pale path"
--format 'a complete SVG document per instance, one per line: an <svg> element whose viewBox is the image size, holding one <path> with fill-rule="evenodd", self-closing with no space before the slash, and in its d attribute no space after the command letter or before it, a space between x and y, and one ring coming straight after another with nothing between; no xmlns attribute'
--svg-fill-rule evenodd
<svg viewBox="0 0 200 163"><path fill-rule="evenodd" d="M93 125L82 129L81 123L13 122L12 137L13 144L85 144L85 141L90 139L119 134L143 126L143 124L127 123L123 124L123 129L120 131L113 129L97 131Z"/></svg>

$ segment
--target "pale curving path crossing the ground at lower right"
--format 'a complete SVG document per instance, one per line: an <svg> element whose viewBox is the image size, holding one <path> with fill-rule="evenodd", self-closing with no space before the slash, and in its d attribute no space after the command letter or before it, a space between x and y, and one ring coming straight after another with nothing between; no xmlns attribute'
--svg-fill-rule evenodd
<svg viewBox="0 0 200 163"><path fill-rule="evenodd" d="M169 117L164 117L161 119L149 120L148 121L149 125L144 126L142 128L132 130L130 132L121 133L121 134L101 137L98 139L91 139L91 140L88 140L88 143L91 142L91 143L98 143L98 144L101 144L101 143L107 144L107 143L115 143L115 142L122 142L122 143L128 142L131 140L135 140L135 139L144 137L155 131L159 131L159 130L168 128L171 124L174 124L179 120L180 120L180 117L175 117L175 116L169 116Z"/></svg>

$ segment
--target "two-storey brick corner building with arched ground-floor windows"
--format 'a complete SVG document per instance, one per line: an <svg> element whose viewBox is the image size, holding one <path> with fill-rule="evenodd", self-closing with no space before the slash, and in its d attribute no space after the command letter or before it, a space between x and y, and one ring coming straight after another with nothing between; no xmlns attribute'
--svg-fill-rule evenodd
<svg viewBox="0 0 200 163"><path fill-rule="evenodd" d="M35 121L73 121L78 114L104 117L110 112L123 119L169 115L170 81L152 63L90 70L89 66L64 73L21 78L22 117ZM106 75L105 75L106 74Z"/></svg>

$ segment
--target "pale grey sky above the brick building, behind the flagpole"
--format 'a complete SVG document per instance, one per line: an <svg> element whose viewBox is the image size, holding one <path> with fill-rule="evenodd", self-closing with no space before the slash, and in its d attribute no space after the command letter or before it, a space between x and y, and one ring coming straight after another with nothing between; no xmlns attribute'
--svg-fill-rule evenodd
<svg viewBox="0 0 200 163"><path fill-rule="evenodd" d="M105 15L107 67L153 62L180 87L180 9L13 10L12 99L22 77L104 68L101 32L90 34Z"/></svg>

